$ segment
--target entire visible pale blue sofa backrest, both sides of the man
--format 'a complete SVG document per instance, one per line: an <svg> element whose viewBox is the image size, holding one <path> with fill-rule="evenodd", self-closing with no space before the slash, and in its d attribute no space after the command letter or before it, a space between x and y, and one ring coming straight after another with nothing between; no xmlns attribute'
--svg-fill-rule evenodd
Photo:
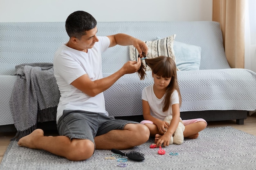
<svg viewBox="0 0 256 170"><path fill-rule="evenodd" d="M175 40L201 46L200 69L230 68L218 22L98 22L98 36L126 33L144 41L176 34ZM0 75L11 75L17 64L52 62L69 37L65 22L0 23ZM113 73L130 60L128 46L109 48L102 55L104 73Z"/></svg>

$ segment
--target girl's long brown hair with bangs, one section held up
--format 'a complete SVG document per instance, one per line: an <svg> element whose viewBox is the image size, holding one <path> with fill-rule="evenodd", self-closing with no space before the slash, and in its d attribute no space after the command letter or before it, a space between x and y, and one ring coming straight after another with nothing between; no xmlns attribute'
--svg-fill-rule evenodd
<svg viewBox="0 0 256 170"><path fill-rule="evenodd" d="M167 86L166 90L163 112L168 110L171 102L171 94L174 90L176 90L179 94L179 101L181 106L182 101L177 81L177 68L175 61L171 57L159 56L156 58L145 59L145 62L155 75L164 78L171 78L171 82ZM145 78L146 72L145 65L143 63L141 63L141 68L139 69L138 74L141 80Z"/></svg>

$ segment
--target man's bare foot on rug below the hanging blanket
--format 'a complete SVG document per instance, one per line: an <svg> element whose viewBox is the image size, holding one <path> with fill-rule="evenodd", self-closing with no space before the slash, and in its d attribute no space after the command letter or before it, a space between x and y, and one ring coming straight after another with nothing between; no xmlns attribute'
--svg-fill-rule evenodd
<svg viewBox="0 0 256 170"><path fill-rule="evenodd" d="M36 149L36 142L34 142L38 137L43 137L44 132L42 129L36 129L33 132L31 132L29 135L20 138L18 141L19 146L24 146L31 149Z"/></svg>

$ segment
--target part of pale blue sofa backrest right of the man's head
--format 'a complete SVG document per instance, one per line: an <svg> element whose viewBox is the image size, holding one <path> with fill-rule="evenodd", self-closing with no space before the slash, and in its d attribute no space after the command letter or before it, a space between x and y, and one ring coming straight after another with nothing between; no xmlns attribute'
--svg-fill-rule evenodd
<svg viewBox="0 0 256 170"><path fill-rule="evenodd" d="M220 24L194 22L100 22L97 35L126 33L143 41L176 34L176 41L201 47L200 70L230 68L225 55ZM174 51L175 52L175 51ZM105 73L117 71L129 58L127 46L114 46L103 54Z"/></svg>

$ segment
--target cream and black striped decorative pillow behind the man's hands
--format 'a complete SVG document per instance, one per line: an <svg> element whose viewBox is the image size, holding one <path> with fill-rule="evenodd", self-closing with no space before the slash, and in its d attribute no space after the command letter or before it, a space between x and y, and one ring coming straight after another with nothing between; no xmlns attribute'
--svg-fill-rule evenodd
<svg viewBox="0 0 256 170"><path fill-rule="evenodd" d="M148 46L147 58L155 58L162 55L166 57L171 57L175 61L175 55L173 50L173 42L175 36L176 34L159 40L145 41ZM137 61L139 52L137 51L137 49L135 49L134 46L129 46L129 55L130 60ZM145 64L144 60L142 60L142 62ZM146 66L146 71L151 71L151 69Z"/></svg>

